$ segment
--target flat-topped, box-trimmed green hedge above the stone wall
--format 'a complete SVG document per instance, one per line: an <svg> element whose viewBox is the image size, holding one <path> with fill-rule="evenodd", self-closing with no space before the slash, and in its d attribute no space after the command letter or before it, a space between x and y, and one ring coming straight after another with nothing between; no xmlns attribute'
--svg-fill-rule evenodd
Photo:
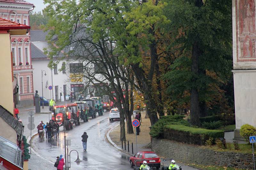
<svg viewBox="0 0 256 170"><path fill-rule="evenodd" d="M164 126L164 138L178 142L205 145L206 140L224 138L224 131L193 128L182 124ZM215 140L214 140L215 141Z"/></svg>

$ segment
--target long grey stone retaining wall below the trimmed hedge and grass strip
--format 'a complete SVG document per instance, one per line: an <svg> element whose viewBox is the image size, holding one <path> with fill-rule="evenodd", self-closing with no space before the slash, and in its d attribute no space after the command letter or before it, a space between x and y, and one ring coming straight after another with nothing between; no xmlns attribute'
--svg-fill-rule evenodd
<svg viewBox="0 0 256 170"><path fill-rule="evenodd" d="M252 154L236 152L216 152L197 145L183 144L167 139L153 138L152 151L164 158L173 158L183 163L228 166L253 169Z"/></svg>

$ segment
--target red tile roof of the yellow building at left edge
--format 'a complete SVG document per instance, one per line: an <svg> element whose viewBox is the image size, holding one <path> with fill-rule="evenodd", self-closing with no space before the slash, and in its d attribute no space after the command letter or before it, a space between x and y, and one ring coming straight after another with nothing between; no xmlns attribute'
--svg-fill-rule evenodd
<svg viewBox="0 0 256 170"><path fill-rule="evenodd" d="M23 25L8 19L0 18L0 30L30 29L30 26Z"/></svg>

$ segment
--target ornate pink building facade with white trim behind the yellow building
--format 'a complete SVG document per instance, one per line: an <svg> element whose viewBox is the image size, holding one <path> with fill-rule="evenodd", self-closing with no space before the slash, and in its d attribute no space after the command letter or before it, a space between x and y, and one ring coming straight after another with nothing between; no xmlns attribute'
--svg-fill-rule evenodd
<svg viewBox="0 0 256 170"><path fill-rule="evenodd" d="M0 17L29 25L29 12L34 5L24 0L0 0ZM18 106L34 104L33 69L31 65L30 34L12 35L11 49L13 74L17 78L19 93L14 96Z"/></svg>

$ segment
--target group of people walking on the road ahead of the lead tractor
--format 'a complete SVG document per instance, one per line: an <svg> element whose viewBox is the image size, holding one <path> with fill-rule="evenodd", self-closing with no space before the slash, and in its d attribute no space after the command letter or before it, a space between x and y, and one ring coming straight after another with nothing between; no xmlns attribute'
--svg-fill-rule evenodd
<svg viewBox="0 0 256 170"><path fill-rule="evenodd" d="M60 133L60 125L57 124L56 122L53 122L50 120L50 122L44 124L43 121L39 123L37 126L37 133L38 133L38 138L40 138L39 131L43 130L43 133L45 132L45 137L48 139L48 141L53 137L53 138L59 138L59 133ZM43 134L44 135L44 134ZM48 137L48 138L47 138Z"/></svg>

